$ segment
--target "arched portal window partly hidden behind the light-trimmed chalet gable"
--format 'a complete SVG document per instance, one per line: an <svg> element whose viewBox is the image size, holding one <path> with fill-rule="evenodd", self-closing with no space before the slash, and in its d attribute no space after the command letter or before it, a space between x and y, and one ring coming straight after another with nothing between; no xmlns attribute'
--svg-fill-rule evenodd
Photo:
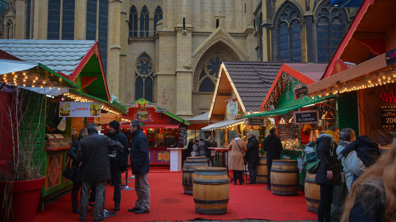
<svg viewBox="0 0 396 222"><path fill-rule="evenodd" d="M225 59L220 55L216 55L213 58L208 59L205 67L201 71L199 92L214 92L215 82L219 77L220 65L224 60Z"/></svg>

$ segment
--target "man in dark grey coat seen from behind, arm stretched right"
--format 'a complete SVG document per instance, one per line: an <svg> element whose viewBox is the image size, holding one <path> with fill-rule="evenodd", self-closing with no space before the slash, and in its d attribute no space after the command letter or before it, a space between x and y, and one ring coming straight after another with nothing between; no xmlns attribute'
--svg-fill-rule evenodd
<svg viewBox="0 0 396 222"><path fill-rule="evenodd" d="M89 123L87 126L88 136L78 143L77 158L82 161L83 178L82 194L80 200L80 221L85 221L88 214L88 195L92 184L95 184L95 206L93 207L93 221L105 220L101 217L103 207L103 193L106 189L106 181L110 179L109 151L121 150L122 144L107 136L98 135L96 124Z"/></svg>

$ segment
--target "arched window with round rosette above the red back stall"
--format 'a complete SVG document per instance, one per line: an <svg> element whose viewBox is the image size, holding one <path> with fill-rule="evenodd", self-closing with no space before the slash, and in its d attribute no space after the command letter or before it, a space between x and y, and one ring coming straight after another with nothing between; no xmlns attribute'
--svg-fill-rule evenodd
<svg viewBox="0 0 396 222"><path fill-rule="evenodd" d="M153 101L153 71L152 61L144 53L135 64L135 100L144 98Z"/></svg>

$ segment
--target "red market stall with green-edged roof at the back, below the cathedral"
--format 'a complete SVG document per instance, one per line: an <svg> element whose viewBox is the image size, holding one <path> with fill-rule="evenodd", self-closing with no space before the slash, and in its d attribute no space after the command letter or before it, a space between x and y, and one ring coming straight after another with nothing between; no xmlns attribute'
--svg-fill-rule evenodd
<svg viewBox="0 0 396 222"><path fill-rule="evenodd" d="M141 122L147 136L150 166L169 166L172 152L170 148L179 148L178 152L184 150L190 123L143 98L127 104L127 107L128 118ZM129 123L122 124L121 128L129 129Z"/></svg>

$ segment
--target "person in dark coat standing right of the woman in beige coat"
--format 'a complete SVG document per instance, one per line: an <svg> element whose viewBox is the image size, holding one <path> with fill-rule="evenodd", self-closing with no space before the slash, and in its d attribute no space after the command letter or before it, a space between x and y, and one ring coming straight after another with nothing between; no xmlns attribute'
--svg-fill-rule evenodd
<svg viewBox="0 0 396 222"><path fill-rule="evenodd" d="M258 149L259 143L252 131L247 132L248 144L246 145L247 151L245 153L246 161L248 162L248 170L250 181L246 184L256 183L257 177L257 163L258 163Z"/></svg>

